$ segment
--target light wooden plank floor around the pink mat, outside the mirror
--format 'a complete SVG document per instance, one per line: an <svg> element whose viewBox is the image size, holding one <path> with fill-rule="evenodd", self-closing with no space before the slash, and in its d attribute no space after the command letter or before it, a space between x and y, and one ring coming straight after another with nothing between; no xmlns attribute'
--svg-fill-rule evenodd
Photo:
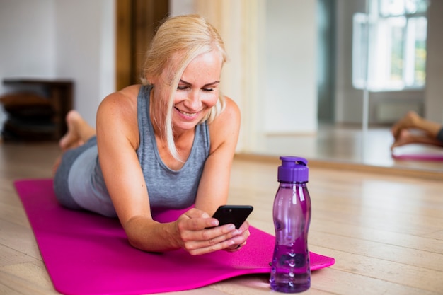
<svg viewBox="0 0 443 295"><path fill-rule="evenodd" d="M0 294L57 294L12 182L49 178L55 144L0 143ZM236 156L229 203L255 207L253 226L273 233L277 157ZM335 258L304 294L443 294L443 173L310 161L309 250ZM172 294L275 294L267 275Z"/></svg>

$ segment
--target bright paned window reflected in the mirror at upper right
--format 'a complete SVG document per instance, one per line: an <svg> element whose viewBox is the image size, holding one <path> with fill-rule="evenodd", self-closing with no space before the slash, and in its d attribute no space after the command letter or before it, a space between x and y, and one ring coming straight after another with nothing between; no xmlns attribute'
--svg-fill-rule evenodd
<svg viewBox="0 0 443 295"><path fill-rule="evenodd" d="M356 13L352 36L355 88L423 88L426 77L427 0L368 0ZM367 67L368 66L368 67Z"/></svg>

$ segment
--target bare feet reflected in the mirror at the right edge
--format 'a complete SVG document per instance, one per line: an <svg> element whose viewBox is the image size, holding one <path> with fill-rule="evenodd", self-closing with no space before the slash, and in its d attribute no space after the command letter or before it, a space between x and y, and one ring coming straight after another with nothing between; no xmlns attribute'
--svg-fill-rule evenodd
<svg viewBox="0 0 443 295"><path fill-rule="evenodd" d="M420 134L410 130L420 130ZM420 117L416 112L408 112L391 129L394 142L391 149L405 144L432 144L443 146L443 126Z"/></svg>

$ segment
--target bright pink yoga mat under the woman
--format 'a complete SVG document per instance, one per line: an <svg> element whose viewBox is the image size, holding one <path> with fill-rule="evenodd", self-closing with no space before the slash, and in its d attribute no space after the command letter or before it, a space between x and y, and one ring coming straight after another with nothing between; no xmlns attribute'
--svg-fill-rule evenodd
<svg viewBox="0 0 443 295"><path fill-rule="evenodd" d="M145 253L130 246L117 219L60 207L52 180L18 180L14 185L54 288L62 294L183 291L243 274L270 272L274 237L252 226L248 244L236 253ZM178 214L163 212L156 219L170 221ZM310 254L311 270L335 262L330 257Z"/></svg>

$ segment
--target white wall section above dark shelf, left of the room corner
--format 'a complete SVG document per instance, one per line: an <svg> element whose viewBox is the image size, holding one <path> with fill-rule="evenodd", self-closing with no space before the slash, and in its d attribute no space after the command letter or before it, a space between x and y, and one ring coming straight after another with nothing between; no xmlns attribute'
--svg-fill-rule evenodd
<svg viewBox="0 0 443 295"><path fill-rule="evenodd" d="M0 28L0 76L54 76L53 0L1 0Z"/></svg>

